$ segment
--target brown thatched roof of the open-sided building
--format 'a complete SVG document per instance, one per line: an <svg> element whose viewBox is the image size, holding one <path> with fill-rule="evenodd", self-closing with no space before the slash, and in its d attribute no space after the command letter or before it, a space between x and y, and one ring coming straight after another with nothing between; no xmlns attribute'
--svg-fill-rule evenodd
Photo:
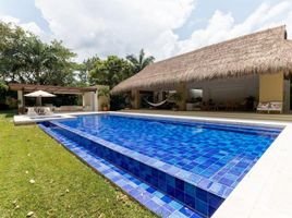
<svg viewBox="0 0 292 218"><path fill-rule="evenodd" d="M153 63L113 87L112 93L174 87L180 83L279 71L285 74L292 72L292 41L287 39L285 26Z"/></svg>

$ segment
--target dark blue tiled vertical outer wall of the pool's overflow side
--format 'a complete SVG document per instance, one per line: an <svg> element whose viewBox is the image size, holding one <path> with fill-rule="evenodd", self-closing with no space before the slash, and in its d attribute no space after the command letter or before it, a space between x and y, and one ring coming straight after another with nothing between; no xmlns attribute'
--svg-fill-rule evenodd
<svg viewBox="0 0 292 218"><path fill-rule="evenodd" d="M182 202L204 217L210 217L224 201L224 198L220 196L217 196L191 183L172 177L163 171L149 167L148 165L145 165L141 161L136 161L125 155L97 144L92 140L83 137L62 128L53 126L51 123L46 123L46 125L51 125L51 128L54 128L54 131L76 142L78 145L83 146L92 154L126 170L127 172L134 174L151 186Z"/></svg>

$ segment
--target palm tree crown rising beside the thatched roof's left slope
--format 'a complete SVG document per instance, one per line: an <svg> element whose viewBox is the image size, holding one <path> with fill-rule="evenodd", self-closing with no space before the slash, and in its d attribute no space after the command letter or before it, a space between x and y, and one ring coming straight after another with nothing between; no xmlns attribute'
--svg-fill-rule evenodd
<svg viewBox="0 0 292 218"><path fill-rule="evenodd" d="M153 56L145 57L144 49L141 49L138 57L134 55L126 56L126 59L133 64L134 73L142 71L146 65L154 62Z"/></svg>

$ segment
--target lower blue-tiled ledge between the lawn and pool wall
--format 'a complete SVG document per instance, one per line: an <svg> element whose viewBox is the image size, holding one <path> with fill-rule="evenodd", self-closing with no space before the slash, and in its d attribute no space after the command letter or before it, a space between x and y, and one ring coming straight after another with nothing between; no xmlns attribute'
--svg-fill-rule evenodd
<svg viewBox="0 0 292 218"><path fill-rule="evenodd" d="M161 193L159 190L149 186L109 161L89 154L77 143L71 141L64 135L58 134L53 131L53 129L46 128L42 124L38 125L52 138L61 143L66 149L72 152L83 161L86 161L93 169L97 170L112 183L120 186L130 196L157 215L163 218L202 218L199 214L188 209L174 198L171 198L170 196Z"/></svg>

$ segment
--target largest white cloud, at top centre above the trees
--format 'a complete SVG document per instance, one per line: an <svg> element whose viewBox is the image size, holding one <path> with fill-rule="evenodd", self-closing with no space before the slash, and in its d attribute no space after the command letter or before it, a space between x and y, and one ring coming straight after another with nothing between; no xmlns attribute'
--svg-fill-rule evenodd
<svg viewBox="0 0 292 218"><path fill-rule="evenodd" d="M36 0L54 37L80 59L95 53L125 56L145 48L158 59L172 56L195 0Z"/></svg>

